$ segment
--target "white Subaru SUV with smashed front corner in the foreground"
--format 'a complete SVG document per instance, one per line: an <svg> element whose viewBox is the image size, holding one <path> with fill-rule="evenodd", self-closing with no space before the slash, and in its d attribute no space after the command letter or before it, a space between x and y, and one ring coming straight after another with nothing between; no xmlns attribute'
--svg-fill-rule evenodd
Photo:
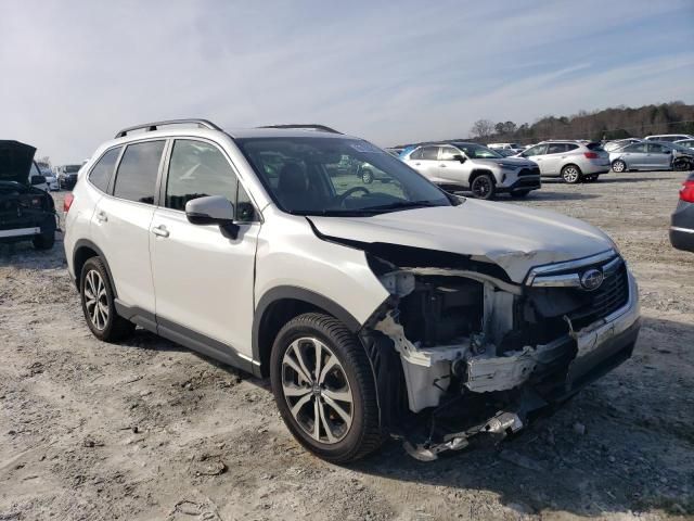
<svg viewBox="0 0 694 521"><path fill-rule="evenodd" d="M288 430L331 461L389 435L420 459L503 437L639 332L634 279L596 228L452 196L326 127L128 128L64 211L98 339L138 325L269 377Z"/></svg>

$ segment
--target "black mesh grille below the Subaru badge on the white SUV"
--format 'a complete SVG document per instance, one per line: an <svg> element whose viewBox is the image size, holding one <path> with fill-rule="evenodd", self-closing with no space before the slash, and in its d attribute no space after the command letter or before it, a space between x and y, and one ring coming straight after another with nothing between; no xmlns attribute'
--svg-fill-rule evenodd
<svg viewBox="0 0 694 521"><path fill-rule="evenodd" d="M568 314L574 329L584 328L625 306L629 301L629 278L624 262L601 287L588 293L588 302Z"/></svg>

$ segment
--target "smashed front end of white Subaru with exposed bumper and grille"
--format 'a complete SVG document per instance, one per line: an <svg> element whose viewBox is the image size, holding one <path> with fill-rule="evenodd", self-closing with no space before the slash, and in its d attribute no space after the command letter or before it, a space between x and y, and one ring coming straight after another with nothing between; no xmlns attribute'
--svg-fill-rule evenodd
<svg viewBox="0 0 694 521"><path fill-rule="evenodd" d="M361 333L383 420L419 459L518 431L633 350L638 290L614 251L516 283L486 258L363 247L390 293Z"/></svg>

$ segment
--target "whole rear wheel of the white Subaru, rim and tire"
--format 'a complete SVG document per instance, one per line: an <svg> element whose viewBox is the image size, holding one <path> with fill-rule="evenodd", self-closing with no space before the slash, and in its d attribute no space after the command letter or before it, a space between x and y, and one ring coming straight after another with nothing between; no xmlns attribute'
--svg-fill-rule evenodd
<svg viewBox="0 0 694 521"><path fill-rule="evenodd" d="M87 259L79 280L82 312L94 336L104 342L117 342L134 330L134 323L116 313L113 285L100 257Z"/></svg>

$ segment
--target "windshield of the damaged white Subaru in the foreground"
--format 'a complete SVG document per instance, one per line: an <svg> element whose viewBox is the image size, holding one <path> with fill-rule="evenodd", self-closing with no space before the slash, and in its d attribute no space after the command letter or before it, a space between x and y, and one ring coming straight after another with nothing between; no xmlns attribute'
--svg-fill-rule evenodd
<svg viewBox="0 0 694 521"><path fill-rule="evenodd" d="M235 142L274 202L292 214L363 216L458 204L367 141L287 137Z"/></svg>

